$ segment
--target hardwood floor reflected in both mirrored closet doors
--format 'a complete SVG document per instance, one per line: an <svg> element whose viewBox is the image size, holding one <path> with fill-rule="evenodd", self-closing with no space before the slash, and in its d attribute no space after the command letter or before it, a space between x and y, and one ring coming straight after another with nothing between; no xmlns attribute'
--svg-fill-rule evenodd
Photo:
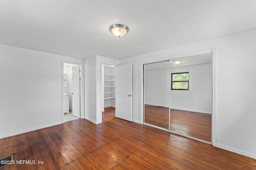
<svg viewBox="0 0 256 170"><path fill-rule="evenodd" d="M145 104L145 123L169 129L168 107ZM170 109L170 130L204 141L212 141L212 115Z"/></svg>

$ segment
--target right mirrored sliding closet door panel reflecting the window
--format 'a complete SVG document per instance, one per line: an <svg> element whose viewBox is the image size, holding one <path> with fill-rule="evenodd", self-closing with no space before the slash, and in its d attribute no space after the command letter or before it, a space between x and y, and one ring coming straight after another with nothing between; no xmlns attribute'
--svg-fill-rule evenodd
<svg viewBox="0 0 256 170"><path fill-rule="evenodd" d="M170 60L170 131L211 142L212 53L174 62Z"/></svg>

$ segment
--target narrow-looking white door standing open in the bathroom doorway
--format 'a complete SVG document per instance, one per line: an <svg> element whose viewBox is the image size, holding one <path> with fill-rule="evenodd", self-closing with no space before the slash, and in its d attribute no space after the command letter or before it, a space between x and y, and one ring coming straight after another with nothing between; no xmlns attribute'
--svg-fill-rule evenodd
<svg viewBox="0 0 256 170"><path fill-rule="evenodd" d="M72 112L80 117L80 72L79 66L72 67Z"/></svg>

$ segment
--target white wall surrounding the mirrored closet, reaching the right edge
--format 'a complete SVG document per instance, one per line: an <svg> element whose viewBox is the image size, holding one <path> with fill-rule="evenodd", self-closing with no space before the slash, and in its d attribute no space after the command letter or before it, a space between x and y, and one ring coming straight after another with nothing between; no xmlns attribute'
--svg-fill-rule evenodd
<svg viewBox="0 0 256 170"><path fill-rule="evenodd" d="M216 145L256 158L256 30L120 61L133 63L132 119L141 121L141 62L174 59L211 48L216 48Z"/></svg>

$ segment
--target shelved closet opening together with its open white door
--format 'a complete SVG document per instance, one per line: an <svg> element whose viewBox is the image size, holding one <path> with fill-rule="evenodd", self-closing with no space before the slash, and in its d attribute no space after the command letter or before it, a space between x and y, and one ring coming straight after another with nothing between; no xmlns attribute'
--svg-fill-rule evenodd
<svg viewBox="0 0 256 170"><path fill-rule="evenodd" d="M132 63L102 64L102 114L105 109L111 109L120 119L132 121Z"/></svg>

